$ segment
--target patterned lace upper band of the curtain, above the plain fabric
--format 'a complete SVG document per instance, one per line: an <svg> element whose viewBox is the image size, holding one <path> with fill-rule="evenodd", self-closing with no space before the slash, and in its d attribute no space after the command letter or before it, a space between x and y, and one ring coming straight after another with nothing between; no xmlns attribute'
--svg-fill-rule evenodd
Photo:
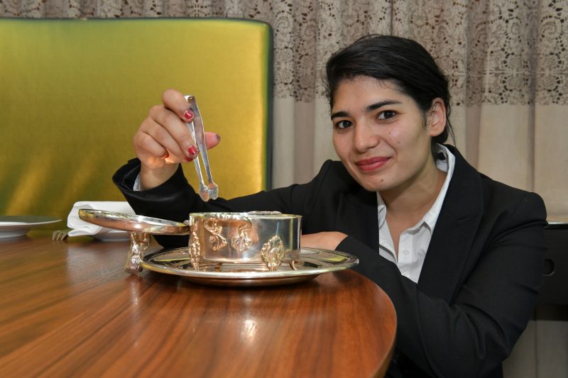
<svg viewBox="0 0 568 378"><path fill-rule="evenodd" d="M322 95L332 52L367 33L413 38L452 79L455 104L567 105L567 1L0 0L26 18L234 17L271 23L275 96Z"/></svg>

